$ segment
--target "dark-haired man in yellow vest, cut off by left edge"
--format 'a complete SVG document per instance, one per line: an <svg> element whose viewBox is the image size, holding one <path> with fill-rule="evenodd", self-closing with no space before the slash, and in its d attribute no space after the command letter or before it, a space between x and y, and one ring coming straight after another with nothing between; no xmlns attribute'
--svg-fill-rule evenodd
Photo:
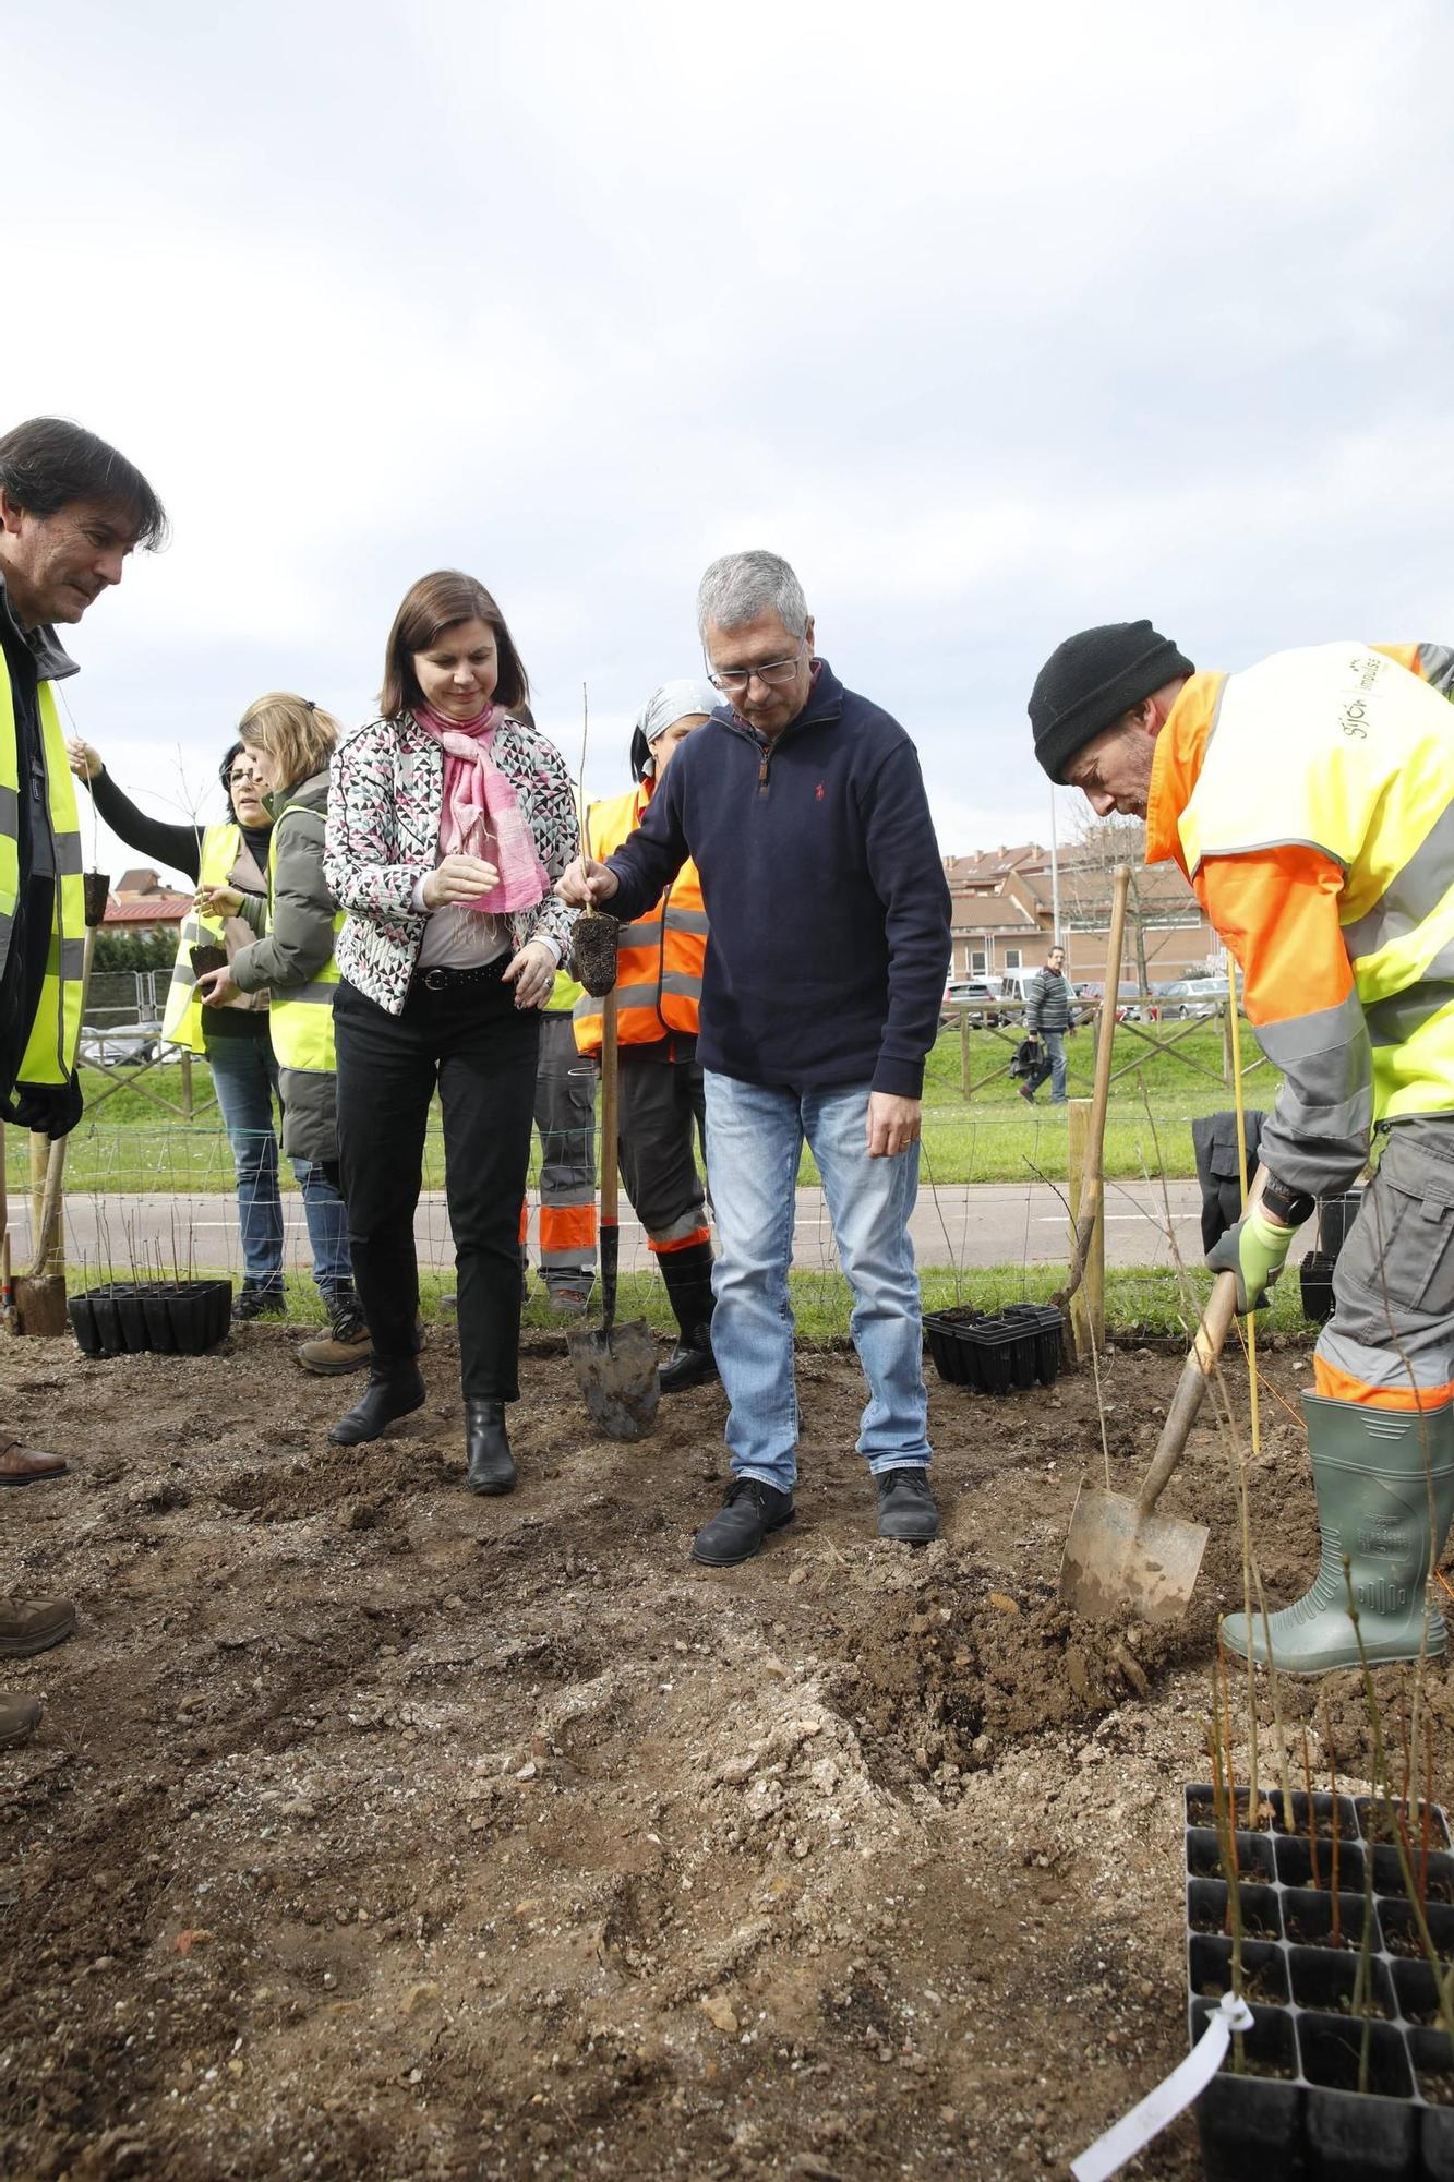
<svg viewBox="0 0 1454 2182"><path fill-rule="evenodd" d="M140 469L94 432L33 417L0 436L0 1117L65 1137L81 1119L76 1047L85 890L76 790L55 685L76 672L55 635L166 539ZM0 1128L0 1228L4 1130ZM0 1425L0 1486L65 1468ZM0 1595L0 1656L28 1658L76 1626L70 1599ZM24 1741L35 1698L0 1693L0 1746Z"/></svg>

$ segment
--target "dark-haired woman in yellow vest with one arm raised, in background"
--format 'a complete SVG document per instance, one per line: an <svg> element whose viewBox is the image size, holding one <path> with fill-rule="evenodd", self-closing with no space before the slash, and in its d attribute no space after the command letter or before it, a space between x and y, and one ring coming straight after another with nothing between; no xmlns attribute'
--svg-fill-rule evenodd
<svg viewBox="0 0 1454 2182"><path fill-rule="evenodd" d="M223 753L218 779L227 799L227 818L207 827L172 825L151 818L107 772L96 744L70 744L70 770L92 790L96 812L111 831L138 855L183 871L196 886L196 899L183 919L177 940L172 982L162 1010L162 1036L201 1054L212 1076L218 1113L231 1146L238 1185L238 1239L242 1248L242 1287L231 1298L236 1322L282 1314L284 1296L284 1207L277 1187L277 1130L273 1100L277 1093L277 1056L269 1021L266 991L236 991L223 1006L203 1008L192 969L192 947L223 947L231 960L240 947L251 947L255 932L245 914L247 903L266 899L269 844L273 814L253 779L249 751L234 742ZM238 908L218 910L201 903L231 901ZM310 1161L293 1161L312 1279L321 1296L349 1279L347 1226L338 1191ZM301 1357L301 1351L299 1351Z"/></svg>

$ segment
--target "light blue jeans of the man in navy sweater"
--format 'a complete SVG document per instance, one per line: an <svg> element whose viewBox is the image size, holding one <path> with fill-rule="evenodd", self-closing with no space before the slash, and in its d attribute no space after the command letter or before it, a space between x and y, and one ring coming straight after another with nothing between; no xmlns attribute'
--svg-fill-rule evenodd
<svg viewBox="0 0 1454 2182"><path fill-rule="evenodd" d="M712 1270L712 1351L727 1390L736 1477L790 1492L797 1482L792 1383L792 1215L803 1139L823 1176L827 1215L854 1292L849 1331L869 1381L858 1453L869 1471L930 1460L919 1279L908 1215L919 1146L895 1159L865 1150L869 1087L768 1089L707 1071L707 1170L720 1255Z"/></svg>

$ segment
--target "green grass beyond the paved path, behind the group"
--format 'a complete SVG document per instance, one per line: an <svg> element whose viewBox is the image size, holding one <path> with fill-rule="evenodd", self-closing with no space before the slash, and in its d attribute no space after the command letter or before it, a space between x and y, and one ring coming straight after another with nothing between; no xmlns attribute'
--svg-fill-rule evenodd
<svg viewBox="0 0 1454 2182"><path fill-rule="evenodd" d="M1177 1026L1161 1026L1170 1032ZM937 1185L948 1183L1030 1183L1037 1176L1065 1178L1065 1108L1050 1106L1041 1091L1035 1106L1017 1098L1002 1071L1013 1052L1013 1039L993 1030L969 1032L969 1080L974 1095L961 1095L961 1034L945 1030L930 1054L923 1082L923 1174ZM1175 1054L1196 1063L1181 1065ZM1231 1089L1223 1082L1223 1032L1218 1023L1196 1023L1172 1052L1153 1052L1135 1030L1122 1023L1116 1032L1116 1067L1144 1065L1111 1084L1105 1128L1105 1174L1109 1180L1135 1180L1142 1174L1192 1176L1192 1117L1231 1106ZM1260 1063L1251 1034L1244 1032L1247 1104L1271 1106L1279 1076ZM1092 1032L1070 1039L1070 1095L1089 1098L1094 1065ZM1253 1067L1253 1063L1258 1063ZM989 1078L980 1082L980 1078ZM114 1078L111 1078L114 1080ZM92 1069L83 1071L87 1102L111 1082ZM223 1137L207 1065L192 1065L194 1117L155 1104L155 1093L183 1106L183 1076L177 1063L148 1069L111 1093L105 1104L87 1111L76 1130L68 1161L68 1189L100 1191L229 1191L231 1154ZM439 1108L430 1117L428 1174L443 1174ZM7 1135L7 1176L13 1191L26 1185L28 1143L24 1130ZM535 1161L539 1148L535 1150ZM535 1180L535 1165L531 1167ZM817 1183L810 1156L803 1156L803 1183ZM284 1187L293 1176L284 1167Z"/></svg>

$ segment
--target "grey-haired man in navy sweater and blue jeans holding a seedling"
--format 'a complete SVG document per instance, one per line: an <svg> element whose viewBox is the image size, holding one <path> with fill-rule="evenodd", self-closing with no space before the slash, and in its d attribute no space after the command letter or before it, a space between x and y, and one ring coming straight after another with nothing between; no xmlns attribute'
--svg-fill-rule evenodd
<svg viewBox="0 0 1454 2182"><path fill-rule="evenodd" d="M908 1215L923 1056L950 964L950 890L913 742L814 657L801 585L771 552L714 561L696 622L725 703L677 751L642 825L565 901L631 921L688 855L712 940L696 1058L720 1255L712 1348L731 1484L692 1554L731 1567L792 1521L788 1263L803 1139L823 1176L869 1405L858 1451L884 1538L939 1530Z"/></svg>

